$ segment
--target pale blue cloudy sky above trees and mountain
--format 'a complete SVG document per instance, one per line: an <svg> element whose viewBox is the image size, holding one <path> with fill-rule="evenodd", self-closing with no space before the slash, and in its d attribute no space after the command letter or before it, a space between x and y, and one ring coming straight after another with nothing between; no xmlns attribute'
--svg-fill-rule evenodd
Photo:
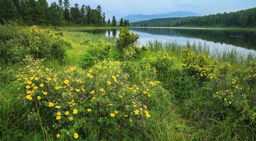
<svg viewBox="0 0 256 141"><path fill-rule="evenodd" d="M47 0L48 4L58 0ZM64 0L63 0L64 1ZM256 7L256 0L69 0L71 6L78 3L95 9L100 5L106 18L117 19L129 14L167 14L175 11L189 11L208 15L238 11Z"/></svg>

